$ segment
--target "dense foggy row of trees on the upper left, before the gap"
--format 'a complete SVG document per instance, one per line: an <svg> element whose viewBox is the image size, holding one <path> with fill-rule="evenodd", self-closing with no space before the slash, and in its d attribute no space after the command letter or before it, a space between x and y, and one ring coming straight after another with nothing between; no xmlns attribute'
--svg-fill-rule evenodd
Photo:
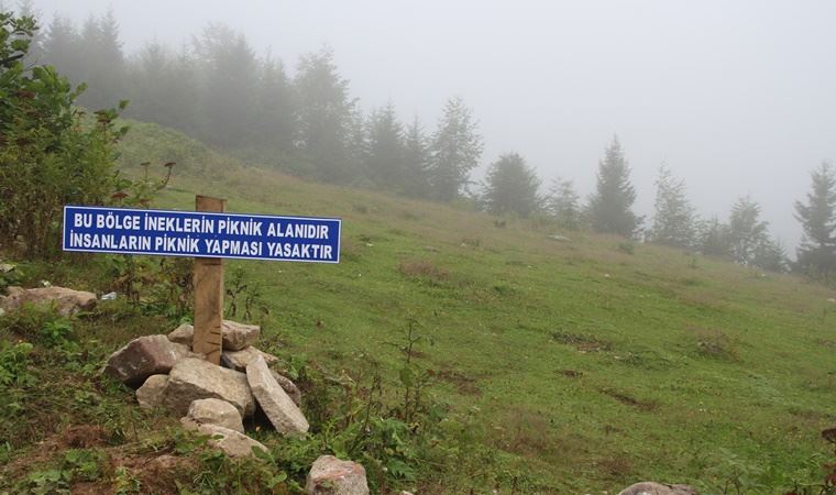
<svg viewBox="0 0 836 495"><path fill-rule="evenodd" d="M56 16L29 58L88 82L81 106L108 108L127 98L127 117L255 151L262 162L319 180L447 201L466 186L482 153L477 123L461 98L446 103L433 132L417 117L402 123L393 103L364 116L330 50L300 57L292 77L280 61L257 56L243 34L222 24L177 50L151 42L125 55L111 12L80 28Z"/></svg>

